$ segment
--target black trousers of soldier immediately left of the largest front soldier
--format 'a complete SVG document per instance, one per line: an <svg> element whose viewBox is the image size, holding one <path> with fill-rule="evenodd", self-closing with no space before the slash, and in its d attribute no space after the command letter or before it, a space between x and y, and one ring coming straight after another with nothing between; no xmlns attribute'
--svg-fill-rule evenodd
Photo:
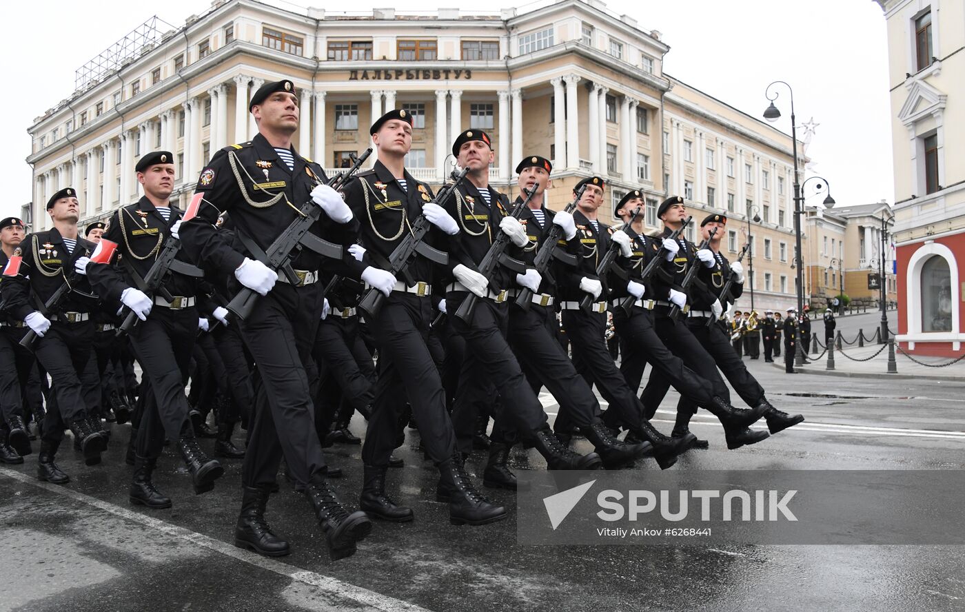
<svg viewBox="0 0 965 612"><path fill-rule="evenodd" d="M177 441L194 435L188 420L190 408L184 384L197 330L196 308L172 310L156 305L148 320L139 321L130 330L131 347L144 377L134 446L139 457L160 457L165 436Z"/></svg>

